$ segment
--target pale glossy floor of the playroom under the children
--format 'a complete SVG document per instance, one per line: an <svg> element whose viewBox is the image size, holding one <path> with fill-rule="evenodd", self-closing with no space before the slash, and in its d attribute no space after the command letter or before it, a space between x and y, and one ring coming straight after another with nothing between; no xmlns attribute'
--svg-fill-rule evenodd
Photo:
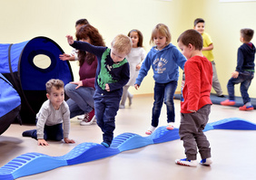
<svg viewBox="0 0 256 180"><path fill-rule="evenodd" d="M180 121L180 101L175 101L176 126ZM153 98L138 96L133 98L132 107L120 109L116 117L114 136L124 132L133 132L145 136L144 132L151 122ZM255 110L240 111L238 108L212 105L210 121L223 118L244 118L256 123ZM166 110L162 107L160 126L166 125ZM102 132L97 125L80 126L77 118L71 119L70 137L75 144L49 142L48 147L39 147L30 137L22 137L22 132L34 126L11 125L0 136L0 166L4 166L16 156L38 152L48 156L63 156L75 146L83 142L102 142ZM151 145L116 156L106 157L92 162L64 166L37 175L21 177L21 180L34 179L92 179L92 180L170 180L170 179L202 179L202 180L252 180L255 179L256 133L244 130L211 130L206 136L212 147L212 166L177 166L176 158L183 158L184 149L181 140ZM200 156L198 156L200 160Z"/></svg>

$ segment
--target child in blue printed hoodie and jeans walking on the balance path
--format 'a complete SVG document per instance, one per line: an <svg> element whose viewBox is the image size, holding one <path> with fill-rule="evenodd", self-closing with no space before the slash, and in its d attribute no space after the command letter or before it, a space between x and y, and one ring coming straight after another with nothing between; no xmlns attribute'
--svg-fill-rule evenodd
<svg viewBox="0 0 256 180"><path fill-rule="evenodd" d="M153 79L155 81L154 102L152 123L151 127L146 131L147 135L151 135L159 124L163 100L167 108L168 126L166 128L169 130L174 128L175 111L173 96L179 79L179 66L183 70L184 63L186 62L186 58L171 43L171 33L165 24L157 24L155 26L151 43L154 43L155 46L148 52L143 61L142 68L134 85L137 90L152 66Z"/></svg>

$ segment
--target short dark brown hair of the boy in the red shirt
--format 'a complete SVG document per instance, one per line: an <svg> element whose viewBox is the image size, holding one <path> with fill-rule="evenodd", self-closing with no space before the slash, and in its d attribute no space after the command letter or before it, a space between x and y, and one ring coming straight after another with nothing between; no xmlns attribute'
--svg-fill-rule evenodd
<svg viewBox="0 0 256 180"><path fill-rule="evenodd" d="M194 29L183 32L177 42L182 42L185 46L188 46L189 43L191 43L192 46L195 47L195 50L202 50L202 35Z"/></svg>

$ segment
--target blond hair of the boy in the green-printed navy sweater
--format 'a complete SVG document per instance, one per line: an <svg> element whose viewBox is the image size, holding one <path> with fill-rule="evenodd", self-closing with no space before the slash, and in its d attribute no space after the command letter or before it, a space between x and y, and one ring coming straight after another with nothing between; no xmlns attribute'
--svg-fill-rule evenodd
<svg viewBox="0 0 256 180"><path fill-rule="evenodd" d="M124 34L118 34L113 38L111 43L112 48L120 53L130 53L133 47L133 42L130 37Z"/></svg>

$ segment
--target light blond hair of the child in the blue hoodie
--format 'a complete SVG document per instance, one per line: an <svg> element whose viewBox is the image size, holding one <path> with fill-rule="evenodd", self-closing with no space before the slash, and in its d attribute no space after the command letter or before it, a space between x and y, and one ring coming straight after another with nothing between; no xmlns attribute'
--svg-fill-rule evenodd
<svg viewBox="0 0 256 180"><path fill-rule="evenodd" d="M167 25L165 24L157 24L154 28L153 28L153 32L151 35L151 40L150 43L153 43L153 38L156 36L156 34L159 33L160 35L166 37L166 43L171 43L172 40L172 36L171 33L169 31L169 28L167 27Z"/></svg>

